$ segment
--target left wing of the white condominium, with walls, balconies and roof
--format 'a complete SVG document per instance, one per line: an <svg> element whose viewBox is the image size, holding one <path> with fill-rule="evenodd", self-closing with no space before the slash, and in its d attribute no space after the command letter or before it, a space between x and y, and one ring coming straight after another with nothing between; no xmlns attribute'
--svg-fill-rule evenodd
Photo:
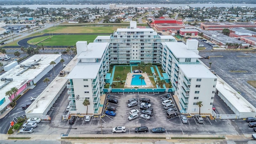
<svg viewBox="0 0 256 144"><path fill-rule="evenodd" d="M70 84L67 88L68 100L70 100L71 115L97 114L100 107L100 96L103 93L104 78L109 69L108 43L90 43L86 41L76 42L78 62L68 74ZM90 105L83 105L88 99Z"/></svg>

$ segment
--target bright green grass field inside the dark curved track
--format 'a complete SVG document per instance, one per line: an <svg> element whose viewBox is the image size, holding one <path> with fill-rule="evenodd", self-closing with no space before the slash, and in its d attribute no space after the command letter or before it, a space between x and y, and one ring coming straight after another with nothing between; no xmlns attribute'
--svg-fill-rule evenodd
<svg viewBox="0 0 256 144"><path fill-rule="evenodd" d="M74 46L77 41L87 41L88 43L93 42L97 37L96 34L90 35L53 35L51 38L49 36L42 36L38 38L33 38L28 40L29 44L38 44L44 46ZM47 40L45 40L48 38ZM45 40L41 42L42 40ZM40 43L39 43L40 42Z"/></svg>

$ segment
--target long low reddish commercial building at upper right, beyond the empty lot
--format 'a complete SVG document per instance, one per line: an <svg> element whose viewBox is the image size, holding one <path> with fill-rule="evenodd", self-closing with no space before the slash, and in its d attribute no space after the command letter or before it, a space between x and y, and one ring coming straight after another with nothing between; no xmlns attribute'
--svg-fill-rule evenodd
<svg viewBox="0 0 256 144"><path fill-rule="evenodd" d="M250 22L203 22L202 30L222 31L224 28L256 28L256 24Z"/></svg>

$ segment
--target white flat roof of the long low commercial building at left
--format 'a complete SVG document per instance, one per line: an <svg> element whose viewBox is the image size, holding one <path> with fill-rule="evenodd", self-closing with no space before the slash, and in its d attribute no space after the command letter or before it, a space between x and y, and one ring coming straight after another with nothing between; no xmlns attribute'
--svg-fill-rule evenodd
<svg viewBox="0 0 256 144"><path fill-rule="evenodd" d="M16 87L20 89L25 83L36 78L38 74L50 66L50 62L55 61L60 56L60 54L36 54L2 74L0 78L12 78L13 81L1 89L0 99L2 99L2 97L5 96L5 93L11 88ZM33 68L28 68L27 70L20 68L20 65L29 66L36 63L39 63L39 65L32 66ZM3 84L5 84L5 82L0 81L0 86Z"/></svg>

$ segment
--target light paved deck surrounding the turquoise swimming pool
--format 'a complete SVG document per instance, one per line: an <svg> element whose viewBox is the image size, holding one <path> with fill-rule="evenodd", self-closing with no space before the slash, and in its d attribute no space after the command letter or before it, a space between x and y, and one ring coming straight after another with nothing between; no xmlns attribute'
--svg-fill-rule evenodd
<svg viewBox="0 0 256 144"><path fill-rule="evenodd" d="M132 83L132 75L135 75L135 74L140 74L142 76L144 76L144 80L146 82L146 86L133 86L131 85ZM126 76L126 81L125 81L125 85L124 85L125 88L134 88L134 87L138 87L138 88L154 88L154 86L152 85L150 79L148 78L148 75L146 73L128 73L127 76Z"/></svg>

